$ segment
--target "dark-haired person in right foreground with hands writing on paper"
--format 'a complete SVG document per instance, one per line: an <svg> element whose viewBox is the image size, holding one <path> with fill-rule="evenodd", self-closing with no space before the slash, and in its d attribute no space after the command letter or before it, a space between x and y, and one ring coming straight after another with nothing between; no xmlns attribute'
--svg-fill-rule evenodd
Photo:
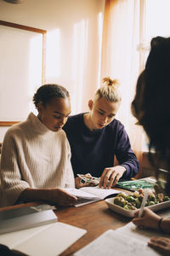
<svg viewBox="0 0 170 256"><path fill-rule="evenodd" d="M155 148L155 158L150 154L151 163L156 168L156 177L161 173L159 169L166 169L167 184L164 193L170 195L170 38L153 38L151 40L150 55L146 61L144 72L140 74L136 96L132 103L133 114L144 126L150 148ZM150 149L149 148L149 149ZM148 227L170 234L170 219L161 218L149 209L144 210L142 218L138 212L133 218L133 224ZM154 247L163 255L170 255L170 239L152 237L150 247Z"/></svg>

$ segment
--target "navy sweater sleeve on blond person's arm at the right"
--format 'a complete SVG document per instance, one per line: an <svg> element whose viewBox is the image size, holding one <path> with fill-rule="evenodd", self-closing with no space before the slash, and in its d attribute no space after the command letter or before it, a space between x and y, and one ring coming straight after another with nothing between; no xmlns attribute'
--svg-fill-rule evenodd
<svg viewBox="0 0 170 256"><path fill-rule="evenodd" d="M122 125L117 139L116 145L116 159L121 166L124 166L127 170L122 176L122 178L131 178L139 172L139 161L130 145L127 132Z"/></svg>

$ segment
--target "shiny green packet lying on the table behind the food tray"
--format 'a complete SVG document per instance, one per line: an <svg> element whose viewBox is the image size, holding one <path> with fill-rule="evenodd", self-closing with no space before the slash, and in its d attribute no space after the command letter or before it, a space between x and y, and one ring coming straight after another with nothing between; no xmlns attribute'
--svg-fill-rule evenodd
<svg viewBox="0 0 170 256"><path fill-rule="evenodd" d="M127 189L127 190L138 190L138 189L153 189L154 183L150 183L146 180L132 180L116 183L117 188Z"/></svg>

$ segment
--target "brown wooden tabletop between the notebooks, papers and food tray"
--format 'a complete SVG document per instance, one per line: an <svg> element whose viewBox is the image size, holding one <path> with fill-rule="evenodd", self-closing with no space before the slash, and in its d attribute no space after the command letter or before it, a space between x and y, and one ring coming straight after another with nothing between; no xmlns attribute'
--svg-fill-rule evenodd
<svg viewBox="0 0 170 256"><path fill-rule="evenodd" d="M0 211L18 208L37 206L40 203L27 203L14 207L0 208ZM59 207L54 211L59 222L71 224L79 228L87 230L87 233L77 240L71 247L61 253L60 256L70 256L77 252L80 248L86 246L90 241L93 241L105 230L116 230L119 227L131 221L130 218L122 216L106 205L105 201L97 201L82 207Z"/></svg>

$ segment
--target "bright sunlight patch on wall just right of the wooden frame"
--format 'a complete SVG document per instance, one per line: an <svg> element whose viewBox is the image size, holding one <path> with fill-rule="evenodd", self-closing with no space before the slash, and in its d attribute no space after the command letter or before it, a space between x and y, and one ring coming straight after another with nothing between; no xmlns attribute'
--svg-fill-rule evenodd
<svg viewBox="0 0 170 256"><path fill-rule="evenodd" d="M46 78L53 81L60 74L60 31L59 28L47 33Z"/></svg>

